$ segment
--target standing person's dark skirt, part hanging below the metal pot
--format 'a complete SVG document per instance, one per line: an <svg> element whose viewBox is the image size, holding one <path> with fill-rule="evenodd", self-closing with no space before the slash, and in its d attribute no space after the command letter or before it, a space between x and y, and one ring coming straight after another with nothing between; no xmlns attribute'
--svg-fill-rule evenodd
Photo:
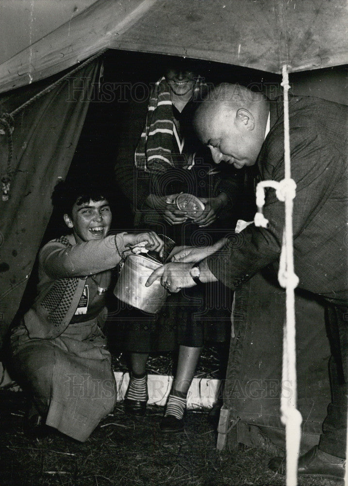
<svg viewBox="0 0 348 486"><path fill-rule="evenodd" d="M107 322L109 344L127 352L154 353L178 345L201 347L205 341L222 343L231 332L232 295L219 282L197 285L170 294L158 314L117 301Z"/></svg>

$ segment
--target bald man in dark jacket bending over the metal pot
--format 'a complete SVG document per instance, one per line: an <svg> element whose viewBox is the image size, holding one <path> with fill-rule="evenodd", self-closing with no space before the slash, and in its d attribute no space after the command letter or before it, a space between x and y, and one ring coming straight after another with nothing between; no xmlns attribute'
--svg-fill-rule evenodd
<svg viewBox="0 0 348 486"><path fill-rule="evenodd" d="M294 200L294 259L299 287L327 303L332 401L319 446L299 459L299 474L342 478L345 473L348 396L348 107L318 98L290 97L290 147ZM257 163L259 180L284 178L282 99L270 102L238 85L215 88L199 106L195 127L215 163L240 169ZM269 124L269 127L267 126ZM266 265L278 266L284 204L274 190L265 197L267 228L243 230L244 244L186 248L156 270L171 292L199 280L220 280L232 290ZM275 268L277 270L277 268ZM269 467L284 473L282 458Z"/></svg>

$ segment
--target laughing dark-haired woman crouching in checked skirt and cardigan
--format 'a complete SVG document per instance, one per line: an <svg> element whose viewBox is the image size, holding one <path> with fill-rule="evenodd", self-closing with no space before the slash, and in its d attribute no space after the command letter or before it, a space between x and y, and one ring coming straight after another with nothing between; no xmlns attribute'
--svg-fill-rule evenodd
<svg viewBox="0 0 348 486"><path fill-rule="evenodd" d="M32 399L28 432L53 427L84 442L116 400L101 330L111 269L137 243L161 251L163 242L152 232L108 236L109 196L95 181L60 182L52 200L70 233L39 253L38 294L12 333L12 368Z"/></svg>

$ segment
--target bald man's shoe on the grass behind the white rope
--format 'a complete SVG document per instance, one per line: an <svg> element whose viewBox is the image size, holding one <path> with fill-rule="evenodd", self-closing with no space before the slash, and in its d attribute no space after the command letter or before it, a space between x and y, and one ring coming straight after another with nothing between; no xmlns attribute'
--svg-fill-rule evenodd
<svg viewBox="0 0 348 486"><path fill-rule="evenodd" d="M334 464L320 459L317 455L318 446L313 447L298 459L298 475L318 475L324 478L344 478L345 462ZM268 463L269 469L286 474L285 458L273 457Z"/></svg>

